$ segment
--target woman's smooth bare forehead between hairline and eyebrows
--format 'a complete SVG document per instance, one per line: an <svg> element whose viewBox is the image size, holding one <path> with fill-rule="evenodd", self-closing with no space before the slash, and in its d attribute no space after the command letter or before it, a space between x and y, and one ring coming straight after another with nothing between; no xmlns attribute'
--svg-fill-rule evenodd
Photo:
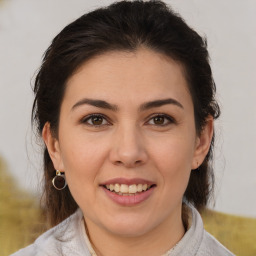
<svg viewBox="0 0 256 256"><path fill-rule="evenodd" d="M64 99L102 98L131 104L170 96L190 100L183 66L149 49L114 51L85 62L67 82ZM126 102L127 103L127 102Z"/></svg>

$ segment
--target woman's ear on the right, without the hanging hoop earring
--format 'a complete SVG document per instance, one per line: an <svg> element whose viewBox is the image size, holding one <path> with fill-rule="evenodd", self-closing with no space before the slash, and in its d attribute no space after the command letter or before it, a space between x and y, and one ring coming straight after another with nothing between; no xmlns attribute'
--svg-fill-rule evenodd
<svg viewBox="0 0 256 256"><path fill-rule="evenodd" d="M213 117L209 116L206 120L206 124L198 135L195 144L195 152L191 169L197 169L204 161L212 142L213 130L214 130Z"/></svg>

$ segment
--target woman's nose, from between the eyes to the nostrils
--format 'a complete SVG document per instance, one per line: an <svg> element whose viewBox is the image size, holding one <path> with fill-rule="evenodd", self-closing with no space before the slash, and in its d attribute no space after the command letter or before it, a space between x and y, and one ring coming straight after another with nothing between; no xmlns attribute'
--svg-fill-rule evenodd
<svg viewBox="0 0 256 256"><path fill-rule="evenodd" d="M134 168L147 162L146 145L136 127L120 127L112 139L109 156L114 165Z"/></svg>

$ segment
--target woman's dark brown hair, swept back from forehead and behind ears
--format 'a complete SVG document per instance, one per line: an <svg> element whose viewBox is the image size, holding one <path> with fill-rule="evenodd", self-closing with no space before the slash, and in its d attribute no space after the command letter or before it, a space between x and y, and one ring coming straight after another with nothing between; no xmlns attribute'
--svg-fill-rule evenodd
<svg viewBox="0 0 256 256"><path fill-rule="evenodd" d="M66 26L44 54L34 86L32 121L39 135L46 122L58 136L60 107L67 80L92 57L108 51L136 51L140 46L162 53L184 67L193 99L197 133L209 115L220 114L206 40L162 1L120 1L85 14ZM199 170L192 171L184 200L204 208L213 188L211 148ZM51 225L70 216L77 204L66 187L57 191L55 169L44 148L44 207Z"/></svg>

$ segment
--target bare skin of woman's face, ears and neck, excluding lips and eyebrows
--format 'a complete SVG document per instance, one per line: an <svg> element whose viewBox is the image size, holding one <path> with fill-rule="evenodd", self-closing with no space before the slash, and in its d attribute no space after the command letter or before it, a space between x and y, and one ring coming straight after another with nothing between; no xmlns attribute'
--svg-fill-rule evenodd
<svg viewBox="0 0 256 256"><path fill-rule="evenodd" d="M82 103L85 98L107 101L118 110ZM145 102L167 98L176 103L140 109ZM93 123L90 114L104 118ZM154 119L158 114L167 118ZM98 255L161 255L184 235L182 197L212 133L209 117L196 134L182 66L140 48L84 63L68 80L58 138L49 123L43 138L55 169L66 174ZM123 206L100 186L113 178L142 178L156 186L143 202Z"/></svg>

